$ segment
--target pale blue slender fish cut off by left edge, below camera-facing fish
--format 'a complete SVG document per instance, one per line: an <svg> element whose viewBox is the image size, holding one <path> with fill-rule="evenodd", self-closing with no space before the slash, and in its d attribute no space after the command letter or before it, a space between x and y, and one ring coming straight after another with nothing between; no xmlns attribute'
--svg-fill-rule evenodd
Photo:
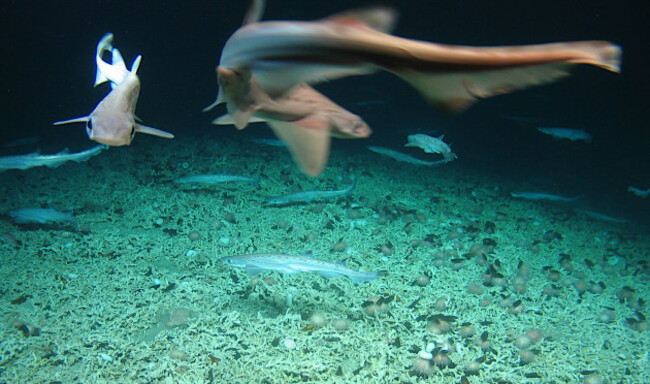
<svg viewBox="0 0 650 384"><path fill-rule="evenodd" d="M76 161L77 163L86 161L92 156L99 155L101 151L107 149L106 145L97 145L85 151L68 153L68 149L54 155L41 155L38 152L28 153L26 155L3 156L0 157L0 172L9 169L29 169L32 167L58 167L67 161Z"/></svg>

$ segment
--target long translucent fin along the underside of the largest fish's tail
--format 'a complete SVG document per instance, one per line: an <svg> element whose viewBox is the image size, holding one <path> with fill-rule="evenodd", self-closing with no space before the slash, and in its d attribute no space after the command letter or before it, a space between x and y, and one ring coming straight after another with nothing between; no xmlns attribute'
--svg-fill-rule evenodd
<svg viewBox="0 0 650 384"><path fill-rule="evenodd" d="M571 66L570 63L560 62L474 72L396 74L436 108L447 113L457 113L479 99L553 82L567 76Z"/></svg>

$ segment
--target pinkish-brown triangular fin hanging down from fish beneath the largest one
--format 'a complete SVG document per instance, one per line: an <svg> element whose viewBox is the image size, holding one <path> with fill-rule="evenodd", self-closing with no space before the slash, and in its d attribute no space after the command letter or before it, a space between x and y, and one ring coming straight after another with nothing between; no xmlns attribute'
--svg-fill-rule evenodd
<svg viewBox="0 0 650 384"><path fill-rule="evenodd" d="M309 176L323 172L330 150L329 124L317 117L298 121L269 120L275 135L287 143L300 168Z"/></svg>

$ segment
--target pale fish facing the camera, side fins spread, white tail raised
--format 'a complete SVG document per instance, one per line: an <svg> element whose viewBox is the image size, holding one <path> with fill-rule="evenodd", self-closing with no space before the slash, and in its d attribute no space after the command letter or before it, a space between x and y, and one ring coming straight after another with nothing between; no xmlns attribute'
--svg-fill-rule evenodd
<svg viewBox="0 0 650 384"><path fill-rule="evenodd" d="M110 81L112 90L90 115L57 121L54 125L86 123L86 133L90 140L110 146L130 145L136 132L173 139L174 135L169 132L135 122L135 105L140 94L140 79L136 72L142 56L136 57L129 71L120 51L113 48L112 43L113 34L107 33L97 44L95 54L95 86ZM102 60L104 52L111 53L110 64Z"/></svg>

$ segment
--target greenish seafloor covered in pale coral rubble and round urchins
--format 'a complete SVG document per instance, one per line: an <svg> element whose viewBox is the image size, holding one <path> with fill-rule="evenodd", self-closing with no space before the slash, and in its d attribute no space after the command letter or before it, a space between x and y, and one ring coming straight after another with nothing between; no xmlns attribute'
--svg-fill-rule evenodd
<svg viewBox="0 0 650 384"><path fill-rule="evenodd" d="M201 173L261 182L172 182ZM347 199L263 204L352 178L358 185ZM515 200L509 192L525 183L464 169L460 160L421 168L335 144L325 174L308 179L282 148L246 136L138 136L86 163L2 173L0 189L2 212L52 206L79 222L0 220L1 382L650 377L647 230ZM219 262L308 251L389 274L360 285L316 274L253 279ZM416 371L428 345L442 366L426 361Z"/></svg>

